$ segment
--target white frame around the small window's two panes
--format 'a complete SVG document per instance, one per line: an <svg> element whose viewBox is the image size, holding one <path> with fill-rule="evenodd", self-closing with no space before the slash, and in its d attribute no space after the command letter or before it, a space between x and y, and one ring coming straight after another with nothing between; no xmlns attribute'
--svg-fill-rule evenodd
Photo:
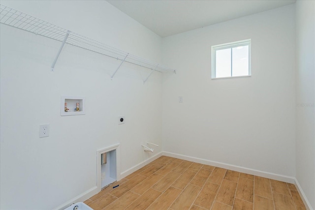
<svg viewBox="0 0 315 210"><path fill-rule="evenodd" d="M219 44L211 46L211 57L212 57L212 74L211 79L224 79L224 78L236 78L236 77L251 77L252 71L251 71L251 42L252 39L246 39L236 42L230 42L225 44ZM248 52L248 75L244 76L232 76L233 66L232 66L232 58L231 56L231 76L230 77L216 77L216 52L217 50L223 50L228 48L234 48L234 47L240 47L240 46L248 46L249 52Z"/></svg>

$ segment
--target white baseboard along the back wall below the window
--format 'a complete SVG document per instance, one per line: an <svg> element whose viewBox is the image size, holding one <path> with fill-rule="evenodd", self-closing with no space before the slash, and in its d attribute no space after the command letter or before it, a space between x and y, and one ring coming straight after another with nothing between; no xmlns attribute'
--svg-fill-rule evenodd
<svg viewBox="0 0 315 210"><path fill-rule="evenodd" d="M196 162L196 163L212 165L212 166L216 166L216 167L220 167L220 168L224 168L224 169L229 169L229 170L233 170L233 171L238 171L238 172L242 172L242 173L246 173L246 174L251 174L251 175L255 175L255 176L259 176L259 177L264 177L264 178L268 178L268 179L284 181L284 182L288 182L288 183L292 183L292 184L295 183L294 177L263 172L263 171L259 171L259 170L255 170L255 169L230 165L230 164L226 164L226 163L221 163L221 162L212 161L212 160L206 160L206 159L197 158L197 157L191 157L191 156L187 156L187 155L183 155L183 154L176 154L176 153L167 152L167 151L163 151L163 155L170 156L170 157L176 157L176 158L180 158L183 160L188 160L188 161L192 161L192 162Z"/></svg>

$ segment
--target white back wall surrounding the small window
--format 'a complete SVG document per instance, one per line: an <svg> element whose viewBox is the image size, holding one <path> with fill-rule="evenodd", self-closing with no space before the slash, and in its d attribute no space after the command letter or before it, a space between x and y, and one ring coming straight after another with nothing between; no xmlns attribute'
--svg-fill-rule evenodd
<svg viewBox="0 0 315 210"><path fill-rule="evenodd" d="M295 176L295 9L163 38L163 150ZM211 80L211 46L252 39L252 77ZM184 102L178 102L183 96Z"/></svg>

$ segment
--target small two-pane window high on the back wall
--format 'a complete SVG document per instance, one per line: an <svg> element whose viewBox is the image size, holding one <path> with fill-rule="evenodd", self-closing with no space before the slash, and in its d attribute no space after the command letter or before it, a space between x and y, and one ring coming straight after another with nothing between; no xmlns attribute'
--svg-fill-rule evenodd
<svg viewBox="0 0 315 210"><path fill-rule="evenodd" d="M212 79L251 76L251 39L211 47Z"/></svg>

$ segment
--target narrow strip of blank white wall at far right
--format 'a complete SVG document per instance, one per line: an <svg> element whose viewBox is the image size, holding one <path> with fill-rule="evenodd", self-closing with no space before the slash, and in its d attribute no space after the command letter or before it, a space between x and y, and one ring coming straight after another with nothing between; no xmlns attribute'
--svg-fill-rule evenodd
<svg viewBox="0 0 315 210"><path fill-rule="evenodd" d="M296 179L315 209L315 1L296 1Z"/></svg>

